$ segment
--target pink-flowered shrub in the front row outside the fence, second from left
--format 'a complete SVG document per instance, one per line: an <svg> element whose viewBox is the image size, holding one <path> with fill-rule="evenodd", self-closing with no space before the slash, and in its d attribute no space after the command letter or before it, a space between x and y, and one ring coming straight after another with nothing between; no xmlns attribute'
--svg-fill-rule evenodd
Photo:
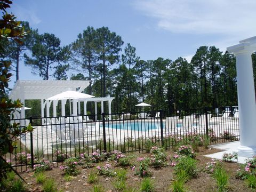
<svg viewBox="0 0 256 192"><path fill-rule="evenodd" d="M65 160L65 166L60 166L60 170L63 171L67 175L77 175L80 171L77 169L77 158L70 157Z"/></svg>

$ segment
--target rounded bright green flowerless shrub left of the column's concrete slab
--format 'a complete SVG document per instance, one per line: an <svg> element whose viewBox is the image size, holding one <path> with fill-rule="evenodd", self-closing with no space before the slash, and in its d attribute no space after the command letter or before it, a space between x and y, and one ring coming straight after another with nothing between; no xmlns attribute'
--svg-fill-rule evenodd
<svg viewBox="0 0 256 192"><path fill-rule="evenodd" d="M197 166L196 160L191 157L180 157L179 162L174 167L175 174L179 173L180 170L186 171L188 174L188 178L196 178L197 177Z"/></svg>

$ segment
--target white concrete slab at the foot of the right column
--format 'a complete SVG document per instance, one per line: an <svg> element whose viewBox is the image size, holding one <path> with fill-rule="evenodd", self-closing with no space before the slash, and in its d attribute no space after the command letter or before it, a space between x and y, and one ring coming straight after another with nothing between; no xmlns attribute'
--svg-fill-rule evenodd
<svg viewBox="0 0 256 192"><path fill-rule="evenodd" d="M218 145L211 145L209 148L215 148L215 149L220 149L223 150L218 153L214 154L209 154L209 155L204 155L205 157L210 157L210 158L217 158L217 159L222 159L223 154L225 153L233 153L237 151L237 147L240 145L240 141L233 141L229 143L222 143ZM247 157L240 157L238 156L238 161L237 163L245 163L245 160L248 159Z"/></svg>

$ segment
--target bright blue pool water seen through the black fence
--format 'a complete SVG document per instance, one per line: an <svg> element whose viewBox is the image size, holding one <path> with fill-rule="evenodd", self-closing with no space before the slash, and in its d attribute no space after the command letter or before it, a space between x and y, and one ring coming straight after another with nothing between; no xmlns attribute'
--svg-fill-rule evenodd
<svg viewBox="0 0 256 192"><path fill-rule="evenodd" d="M163 127L165 125L163 124ZM107 124L106 128L119 129L119 130L133 130L133 131L148 131L160 129L158 122L120 122L115 124Z"/></svg>

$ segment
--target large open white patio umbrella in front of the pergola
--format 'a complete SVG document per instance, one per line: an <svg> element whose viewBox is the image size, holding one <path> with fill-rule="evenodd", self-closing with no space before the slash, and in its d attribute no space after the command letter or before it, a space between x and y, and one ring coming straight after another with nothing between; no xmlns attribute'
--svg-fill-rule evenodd
<svg viewBox="0 0 256 192"><path fill-rule="evenodd" d="M71 99L86 99L86 98L92 98L95 97L93 95L80 93L77 91L64 91L62 93L59 93L57 95L54 95L46 100L65 100L69 99L69 109L70 109L70 115L71 115Z"/></svg>

